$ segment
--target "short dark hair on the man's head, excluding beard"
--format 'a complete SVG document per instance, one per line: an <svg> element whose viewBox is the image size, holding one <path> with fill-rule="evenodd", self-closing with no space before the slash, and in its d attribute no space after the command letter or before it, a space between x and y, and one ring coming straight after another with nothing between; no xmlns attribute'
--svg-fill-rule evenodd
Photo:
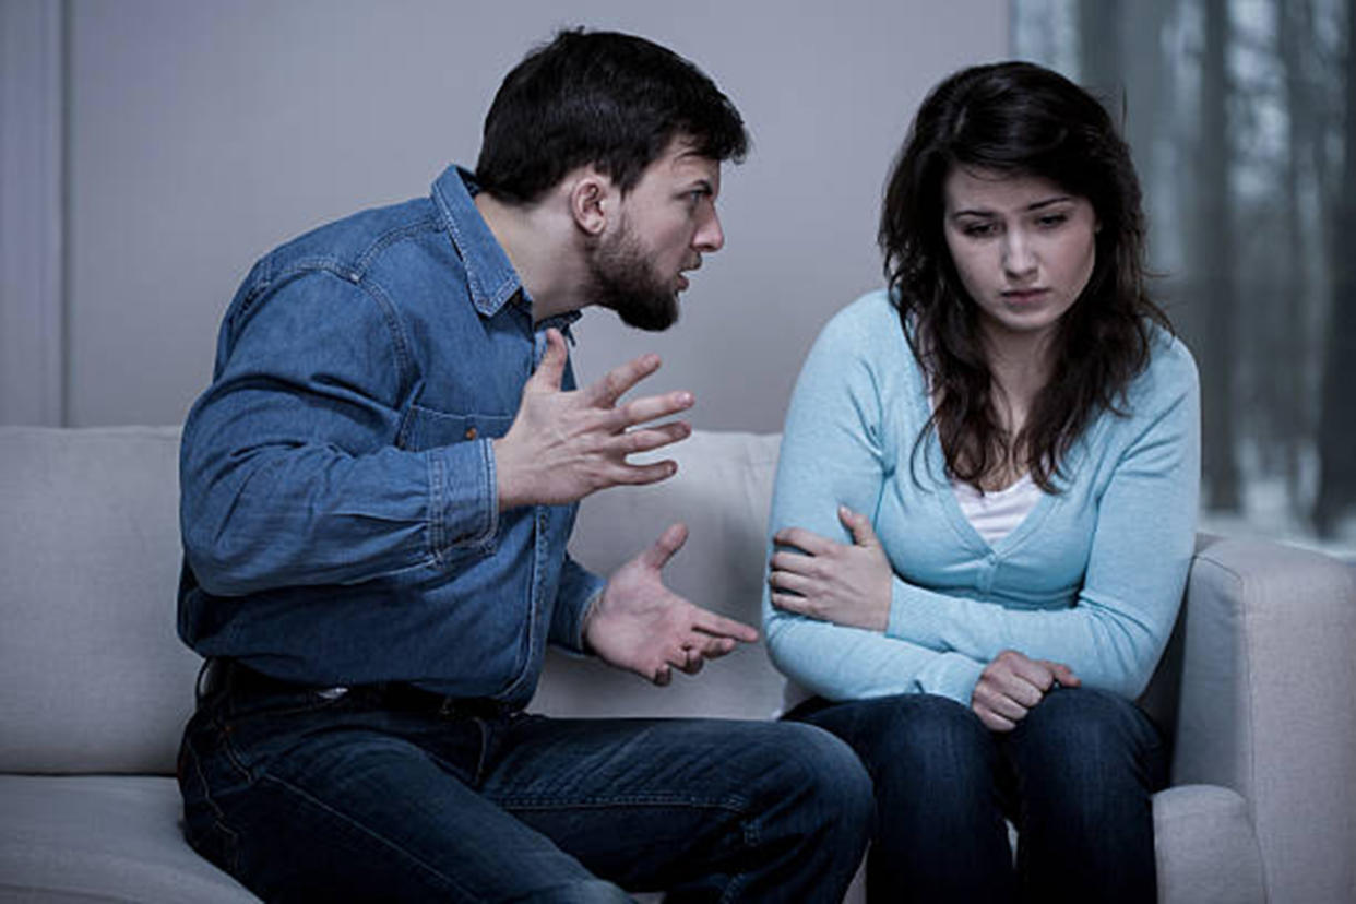
<svg viewBox="0 0 1356 904"><path fill-rule="evenodd" d="M692 62L635 35L571 28L499 85L476 180L500 201L530 203L591 164L625 192L678 136L717 161L749 149L739 111Z"/></svg>

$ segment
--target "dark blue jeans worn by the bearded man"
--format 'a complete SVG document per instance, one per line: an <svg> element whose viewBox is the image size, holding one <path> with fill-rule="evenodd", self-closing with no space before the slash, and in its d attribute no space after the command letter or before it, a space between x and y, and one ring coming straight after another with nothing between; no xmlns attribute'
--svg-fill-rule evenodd
<svg viewBox="0 0 1356 904"><path fill-rule="evenodd" d="M837 901L866 844L871 781L808 725L250 683L199 701L179 782L190 844L270 901Z"/></svg>

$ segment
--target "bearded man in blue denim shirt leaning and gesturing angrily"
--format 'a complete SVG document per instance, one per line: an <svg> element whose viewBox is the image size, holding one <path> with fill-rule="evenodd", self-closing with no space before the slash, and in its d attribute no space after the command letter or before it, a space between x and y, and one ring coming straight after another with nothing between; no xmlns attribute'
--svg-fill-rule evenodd
<svg viewBox="0 0 1356 904"><path fill-rule="evenodd" d="M190 843L268 900L838 900L869 781L800 725L527 716L544 645L663 684L753 629L609 580L576 503L670 477L686 392L576 390L587 305L651 329L724 237L739 114L640 38L567 31L504 80L472 176L260 260L184 426L179 630L209 656Z"/></svg>

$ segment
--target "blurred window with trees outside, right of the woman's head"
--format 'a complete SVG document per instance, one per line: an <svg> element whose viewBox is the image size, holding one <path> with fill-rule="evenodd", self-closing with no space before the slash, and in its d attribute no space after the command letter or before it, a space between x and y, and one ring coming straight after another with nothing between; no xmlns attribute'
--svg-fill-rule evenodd
<svg viewBox="0 0 1356 904"><path fill-rule="evenodd" d="M1196 354L1207 529L1356 548L1352 0L1013 0L1012 50L1096 91Z"/></svg>

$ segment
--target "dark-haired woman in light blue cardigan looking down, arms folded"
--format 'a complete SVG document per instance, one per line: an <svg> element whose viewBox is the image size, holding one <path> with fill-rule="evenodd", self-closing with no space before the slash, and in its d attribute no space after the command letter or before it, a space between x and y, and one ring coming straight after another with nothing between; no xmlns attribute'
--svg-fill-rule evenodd
<svg viewBox="0 0 1356 904"><path fill-rule="evenodd" d="M1200 436L1143 243L1092 96L961 70L891 172L888 290L801 370L765 626L811 694L788 717L875 778L873 900L1154 900L1166 756L1134 701L1181 600Z"/></svg>

